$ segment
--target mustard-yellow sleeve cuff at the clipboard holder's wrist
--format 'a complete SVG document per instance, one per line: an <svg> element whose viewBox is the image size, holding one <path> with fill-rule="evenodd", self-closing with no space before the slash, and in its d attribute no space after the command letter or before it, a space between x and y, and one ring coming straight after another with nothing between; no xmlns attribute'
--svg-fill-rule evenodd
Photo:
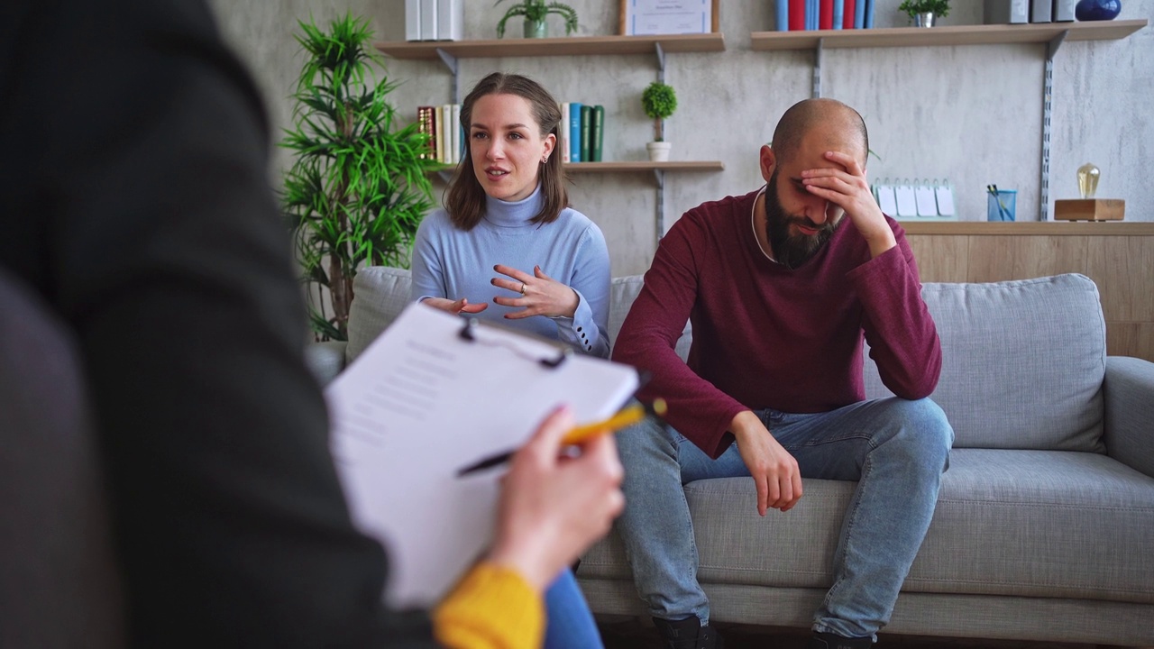
<svg viewBox="0 0 1154 649"><path fill-rule="evenodd" d="M437 606L433 629L451 649L537 649L545 604L517 572L479 564Z"/></svg>

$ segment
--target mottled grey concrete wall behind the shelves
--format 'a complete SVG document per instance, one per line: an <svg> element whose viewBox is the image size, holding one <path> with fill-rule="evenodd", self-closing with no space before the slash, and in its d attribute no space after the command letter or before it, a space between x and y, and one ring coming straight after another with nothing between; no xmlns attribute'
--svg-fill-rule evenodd
<svg viewBox="0 0 1154 649"><path fill-rule="evenodd" d="M900 0L877 0L877 27L905 27ZM617 32L614 0L570 0L582 36ZM982 22L981 2L956 0L942 24ZM403 40L404 0L212 0L222 30L257 79L278 129L287 124L287 95L302 58L292 33L298 18L328 21L352 12L370 20L381 40ZM494 38L508 2L465 0L465 37ZM665 224L726 194L757 188L758 147L781 113L810 95L810 51L752 52L750 31L773 29L773 2L722 0L726 51L668 54L666 81L679 92L666 125L673 159L720 159L720 173L666 176ZM1147 18L1154 0L1126 0L1121 20ZM563 33L560 22L553 33ZM510 21L507 38L519 35ZM969 45L826 50L823 95L865 118L869 176L949 179L964 221L984 221L988 184L1018 189L1018 219L1039 218L1044 45ZM1055 58L1050 200L1078 197L1076 170L1102 170L1100 197L1126 200L1127 221L1154 221L1154 27L1122 40L1064 43ZM560 102L602 104L605 159L644 159L650 121L640 91L657 75L655 57L542 57L462 59L464 95L493 70L541 81ZM440 61L388 64L403 81L394 100L415 119L417 106L450 100L452 77ZM278 152L272 171L287 165ZM657 192L651 173L575 174L574 207L595 221L609 241L614 275L643 273L655 249ZM443 186L437 187L442 189ZM1051 203L1052 204L1052 203Z"/></svg>

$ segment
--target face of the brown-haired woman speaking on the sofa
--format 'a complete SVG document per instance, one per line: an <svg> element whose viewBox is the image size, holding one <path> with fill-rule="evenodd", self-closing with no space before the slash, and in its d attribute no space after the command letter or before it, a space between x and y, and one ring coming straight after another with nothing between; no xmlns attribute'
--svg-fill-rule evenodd
<svg viewBox="0 0 1154 649"><path fill-rule="evenodd" d="M541 137L529 100L516 95L486 95L473 104L469 148L473 173L485 193L520 201L537 189L541 159L553 152L556 136Z"/></svg>

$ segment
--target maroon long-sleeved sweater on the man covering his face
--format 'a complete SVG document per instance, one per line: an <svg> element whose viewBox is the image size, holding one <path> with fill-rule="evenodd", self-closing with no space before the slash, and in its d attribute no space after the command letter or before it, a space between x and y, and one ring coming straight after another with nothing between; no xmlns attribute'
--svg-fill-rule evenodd
<svg viewBox="0 0 1154 649"><path fill-rule="evenodd" d="M905 231L870 259L849 217L801 268L766 259L750 226L757 192L703 203L661 239L613 359L652 373L642 398L664 397L667 420L717 457L742 410L825 412L865 398L862 336L882 381L900 397L934 391L942 348L921 298ZM694 326L689 360L674 345Z"/></svg>

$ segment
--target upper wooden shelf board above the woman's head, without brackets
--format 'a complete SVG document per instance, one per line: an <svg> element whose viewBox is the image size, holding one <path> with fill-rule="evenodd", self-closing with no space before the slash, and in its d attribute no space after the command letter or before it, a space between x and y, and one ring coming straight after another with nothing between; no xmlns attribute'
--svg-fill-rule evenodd
<svg viewBox="0 0 1154 649"><path fill-rule="evenodd" d="M669 36L570 36L492 40L409 40L376 43L395 59L436 59L439 51L460 59L501 57L571 57L580 54L652 54L665 52L724 52L721 32Z"/></svg>

